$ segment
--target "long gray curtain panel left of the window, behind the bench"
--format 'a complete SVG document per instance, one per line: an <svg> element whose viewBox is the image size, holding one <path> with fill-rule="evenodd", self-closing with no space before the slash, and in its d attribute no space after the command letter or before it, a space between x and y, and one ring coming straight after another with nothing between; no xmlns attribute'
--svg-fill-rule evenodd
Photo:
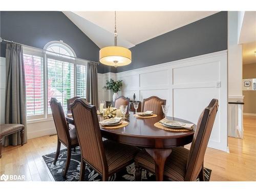
<svg viewBox="0 0 256 192"><path fill-rule="evenodd" d="M5 123L25 126L24 142L27 142L26 84L23 50L21 45L6 45L6 98ZM20 133L4 138L4 145L19 145Z"/></svg>

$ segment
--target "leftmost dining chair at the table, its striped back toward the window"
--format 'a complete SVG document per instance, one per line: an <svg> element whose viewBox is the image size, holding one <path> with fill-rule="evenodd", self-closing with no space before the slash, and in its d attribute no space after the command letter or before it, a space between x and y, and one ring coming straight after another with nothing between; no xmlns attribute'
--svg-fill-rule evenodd
<svg viewBox="0 0 256 192"><path fill-rule="evenodd" d="M69 130L68 128L68 123L66 121L61 103L58 102L56 98L51 98L50 105L52 109L53 120L54 120L56 131L57 131L57 136L58 136L56 156L53 163L55 165L58 160L60 143L62 143L67 147L67 150L68 150L67 161L66 161L64 172L63 172L63 177L66 177L69 169L70 159L71 159L71 148L75 148L76 146L79 146L79 143L76 135L76 130L75 129Z"/></svg>

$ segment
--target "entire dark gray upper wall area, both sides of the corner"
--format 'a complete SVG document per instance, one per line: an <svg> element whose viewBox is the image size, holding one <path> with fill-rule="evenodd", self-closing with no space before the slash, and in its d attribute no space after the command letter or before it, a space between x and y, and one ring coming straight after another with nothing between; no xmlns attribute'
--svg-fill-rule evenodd
<svg viewBox="0 0 256 192"><path fill-rule="evenodd" d="M99 48L62 12L1 11L0 15L2 38L41 49L47 42L61 39L74 49L77 57L98 61ZM4 45L1 48L1 56L5 56ZM110 68L100 64L98 72L122 72L226 49L224 11L136 45L130 49L129 66Z"/></svg>

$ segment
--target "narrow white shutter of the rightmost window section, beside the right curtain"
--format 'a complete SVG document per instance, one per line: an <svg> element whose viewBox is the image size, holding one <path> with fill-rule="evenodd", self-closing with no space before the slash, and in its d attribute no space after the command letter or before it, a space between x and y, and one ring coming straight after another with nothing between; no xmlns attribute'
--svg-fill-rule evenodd
<svg viewBox="0 0 256 192"><path fill-rule="evenodd" d="M76 65L76 96L86 98L87 66Z"/></svg>

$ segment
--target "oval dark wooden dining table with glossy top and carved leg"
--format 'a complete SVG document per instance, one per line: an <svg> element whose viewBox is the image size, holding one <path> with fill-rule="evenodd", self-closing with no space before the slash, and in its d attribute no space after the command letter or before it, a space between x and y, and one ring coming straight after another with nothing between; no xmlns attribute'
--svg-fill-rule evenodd
<svg viewBox="0 0 256 192"><path fill-rule="evenodd" d="M163 119L164 116L136 118L134 117L134 112L129 112L129 114L129 117L126 118L129 125L118 129L103 129L101 127L102 137L119 143L144 147L146 152L150 154L155 161L156 180L162 181L164 163L166 158L172 153L172 148L184 146L192 142L195 132L175 132L158 129L154 124ZM99 121L103 120L102 115L98 115L98 118ZM169 120L191 123L187 120L175 117L166 118ZM68 123L74 124L72 117L66 116L66 120Z"/></svg>

